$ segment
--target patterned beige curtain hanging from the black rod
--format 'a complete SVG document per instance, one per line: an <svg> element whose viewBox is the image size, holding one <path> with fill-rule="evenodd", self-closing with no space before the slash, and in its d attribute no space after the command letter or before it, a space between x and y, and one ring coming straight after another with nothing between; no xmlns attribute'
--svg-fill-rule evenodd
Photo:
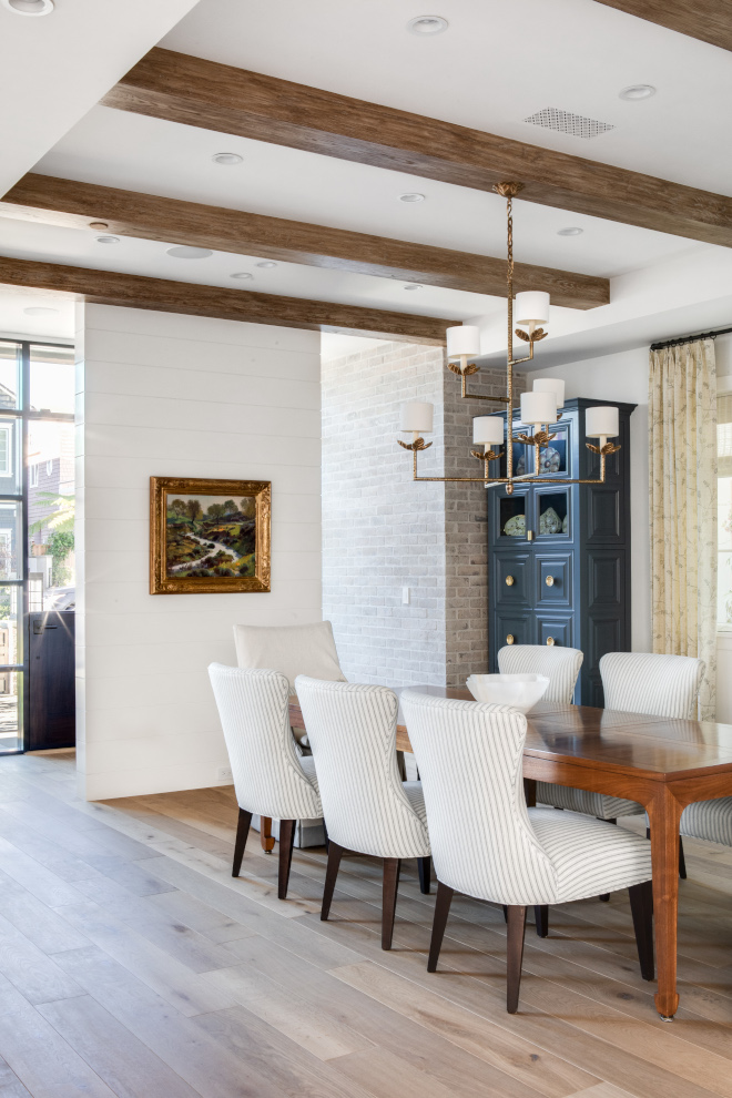
<svg viewBox="0 0 732 1098"><path fill-rule="evenodd" d="M716 680L716 368L714 343L652 350L649 377L653 651L706 664L699 699L714 720Z"/></svg>

